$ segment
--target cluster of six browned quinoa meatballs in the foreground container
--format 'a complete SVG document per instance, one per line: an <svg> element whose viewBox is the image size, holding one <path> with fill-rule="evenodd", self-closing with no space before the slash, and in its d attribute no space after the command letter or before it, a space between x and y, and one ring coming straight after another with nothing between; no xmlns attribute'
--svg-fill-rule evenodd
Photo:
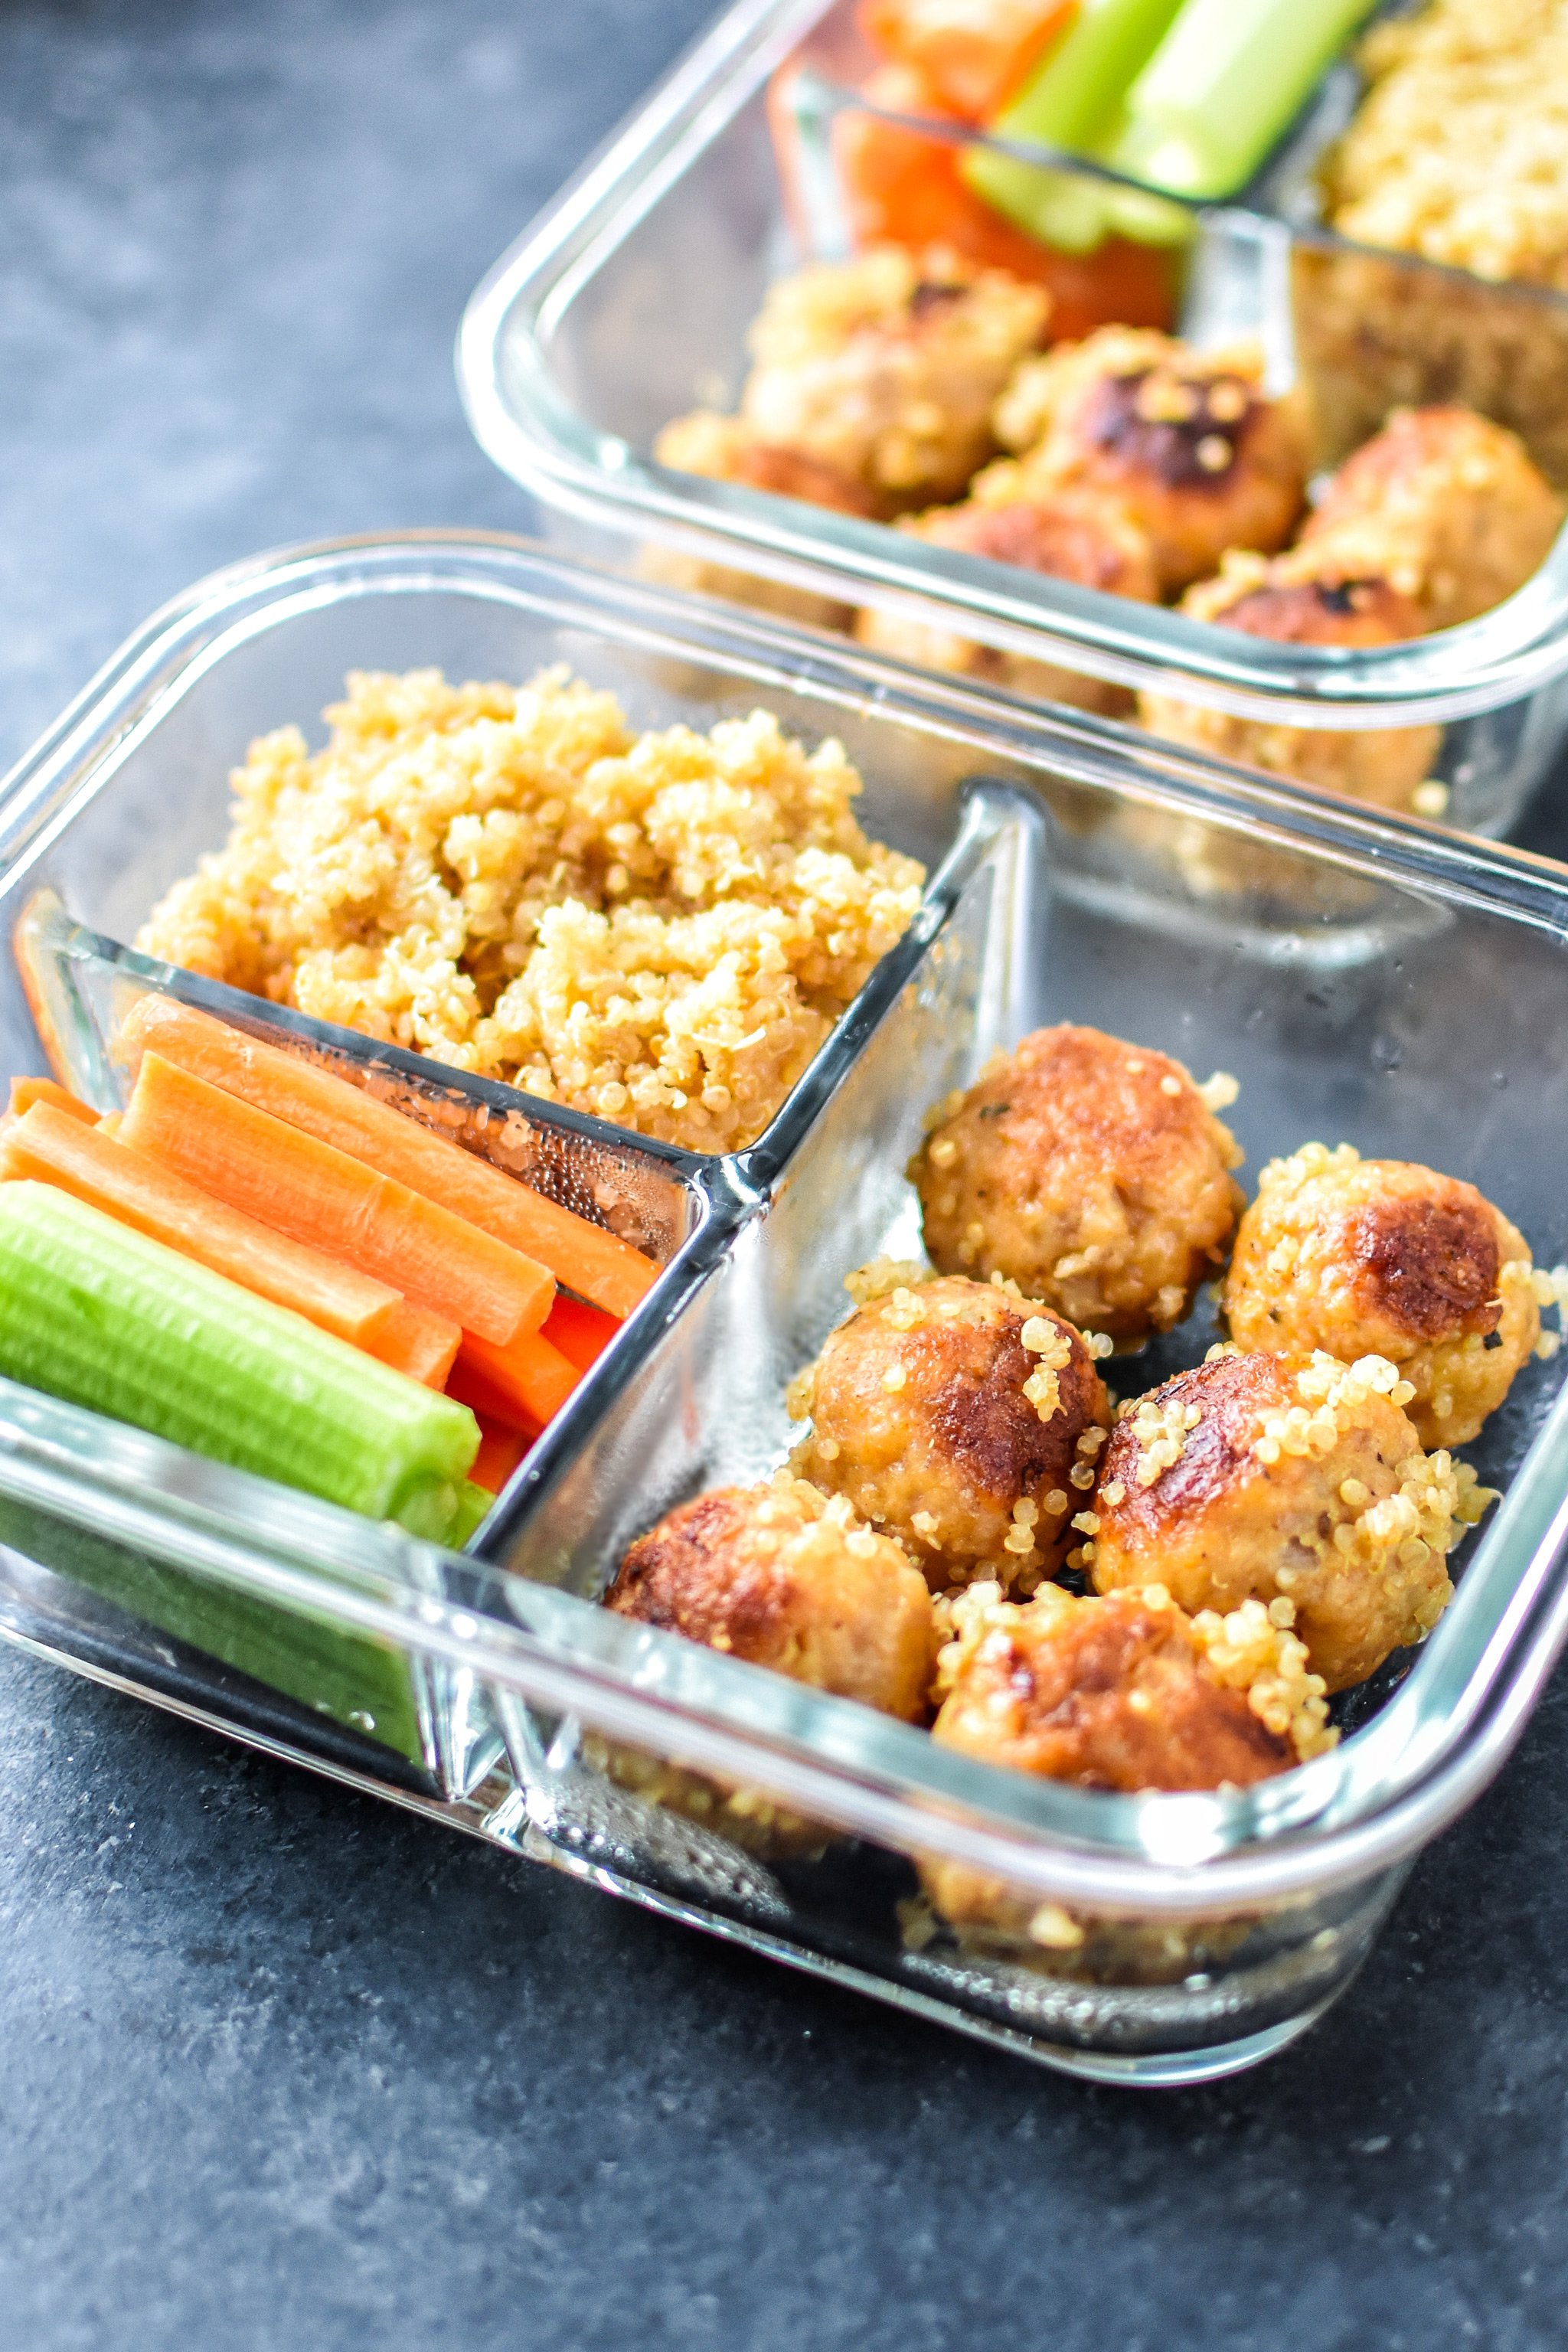
<svg viewBox="0 0 1568 2352"><path fill-rule="evenodd" d="M1237 1228L1211 1108L1234 1091L1072 1025L997 1056L910 1169L936 1272L851 1275L790 1385L790 1470L672 1512L609 1604L1077 1788L1251 1788L1324 1755L1331 1693L1453 1597L1493 1496L1450 1446L1556 1343L1540 1308L1568 1272L1474 1185L1349 1145L1269 1162ZM1098 1362L1180 1322L1232 1232L1234 1338L1112 1411ZM823 1835L649 1771L750 1844ZM959 1863L922 1879L964 1938L1067 1973L1152 1980L1197 1950Z"/></svg>

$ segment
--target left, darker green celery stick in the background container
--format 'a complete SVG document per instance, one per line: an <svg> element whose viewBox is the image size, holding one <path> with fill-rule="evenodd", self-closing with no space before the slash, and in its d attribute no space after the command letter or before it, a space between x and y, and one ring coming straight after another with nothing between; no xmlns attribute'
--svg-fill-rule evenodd
<svg viewBox="0 0 1568 2352"><path fill-rule="evenodd" d="M1098 153L1119 122L1126 92L1171 28L1180 0L1084 0L1072 28L990 125L1001 139ZM969 186L1044 245L1093 252L1110 228L1105 191L1067 172L969 148Z"/></svg>

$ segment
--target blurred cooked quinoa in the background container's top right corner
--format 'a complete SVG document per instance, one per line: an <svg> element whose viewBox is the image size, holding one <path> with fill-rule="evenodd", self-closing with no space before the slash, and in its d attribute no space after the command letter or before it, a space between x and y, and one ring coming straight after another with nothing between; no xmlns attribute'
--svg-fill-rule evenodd
<svg viewBox="0 0 1568 2352"><path fill-rule="evenodd" d="M1361 45L1371 92L1328 158L1328 219L1474 270L1568 287L1568 0L1432 0Z"/></svg>

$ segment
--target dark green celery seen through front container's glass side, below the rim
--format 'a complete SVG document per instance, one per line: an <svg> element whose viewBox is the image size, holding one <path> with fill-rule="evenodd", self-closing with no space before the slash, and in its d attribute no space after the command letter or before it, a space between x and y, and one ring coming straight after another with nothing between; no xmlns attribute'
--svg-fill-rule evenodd
<svg viewBox="0 0 1568 2352"><path fill-rule="evenodd" d="M5 1496L0 1543L423 1766L414 1668L390 1642L207 1583Z"/></svg>

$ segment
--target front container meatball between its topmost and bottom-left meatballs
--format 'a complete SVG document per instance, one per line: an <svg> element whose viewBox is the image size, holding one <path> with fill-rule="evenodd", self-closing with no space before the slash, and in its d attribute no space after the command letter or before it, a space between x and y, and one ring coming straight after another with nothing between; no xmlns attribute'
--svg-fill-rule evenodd
<svg viewBox="0 0 1568 2352"><path fill-rule="evenodd" d="M933 1585L1032 1590L1077 1541L1110 1399L1084 1338L1032 1298L947 1277L867 1298L790 1392L795 1470L898 1536Z"/></svg>

